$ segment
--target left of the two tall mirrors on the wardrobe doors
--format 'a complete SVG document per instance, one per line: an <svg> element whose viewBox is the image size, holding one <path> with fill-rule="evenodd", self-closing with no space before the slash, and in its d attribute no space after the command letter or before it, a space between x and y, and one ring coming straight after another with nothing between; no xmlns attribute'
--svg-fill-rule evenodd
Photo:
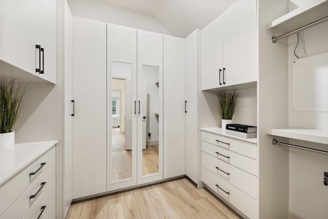
<svg viewBox="0 0 328 219"><path fill-rule="evenodd" d="M112 182L132 177L132 64L111 65L111 176Z"/></svg>

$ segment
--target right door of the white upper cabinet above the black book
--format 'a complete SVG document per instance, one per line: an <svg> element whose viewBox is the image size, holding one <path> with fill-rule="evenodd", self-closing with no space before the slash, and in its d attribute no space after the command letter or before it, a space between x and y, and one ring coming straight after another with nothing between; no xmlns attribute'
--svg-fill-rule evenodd
<svg viewBox="0 0 328 219"><path fill-rule="evenodd" d="M257 81L256 1L239 0L223 14L223 81Z"/></svg>

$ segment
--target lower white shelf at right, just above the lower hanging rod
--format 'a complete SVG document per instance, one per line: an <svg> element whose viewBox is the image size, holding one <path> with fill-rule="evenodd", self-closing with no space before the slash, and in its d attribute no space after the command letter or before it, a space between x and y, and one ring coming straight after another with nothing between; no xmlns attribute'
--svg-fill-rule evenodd
<svg viewBox="0 0 328 219"><path fill-rule="evenodd" d="M328 145L328 131L319 129L304 129L297 127L286 127L283 129L268 128L266 133L280 137L288 137L297 140Z"/></svg>

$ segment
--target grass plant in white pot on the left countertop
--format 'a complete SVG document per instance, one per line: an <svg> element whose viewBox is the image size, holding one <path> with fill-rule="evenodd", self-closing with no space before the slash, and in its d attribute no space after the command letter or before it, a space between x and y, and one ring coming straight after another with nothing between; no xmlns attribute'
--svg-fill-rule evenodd
<svg viewBox="0 0 328 219"><path fill-rule="evenodd" d="M0 153L15 147L15 132L12 130L23 107L26 84L16 79L0 79Z"/></svg>

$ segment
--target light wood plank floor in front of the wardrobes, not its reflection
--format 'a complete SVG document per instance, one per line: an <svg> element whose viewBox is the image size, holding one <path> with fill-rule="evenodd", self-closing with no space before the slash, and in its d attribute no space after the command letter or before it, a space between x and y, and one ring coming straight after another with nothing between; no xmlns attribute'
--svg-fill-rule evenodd
<svg viewBox="0 0 328 219"><path fill-rule="evenodd" d="M71 205L67 219L241 218L187 178Z"/></svg>

